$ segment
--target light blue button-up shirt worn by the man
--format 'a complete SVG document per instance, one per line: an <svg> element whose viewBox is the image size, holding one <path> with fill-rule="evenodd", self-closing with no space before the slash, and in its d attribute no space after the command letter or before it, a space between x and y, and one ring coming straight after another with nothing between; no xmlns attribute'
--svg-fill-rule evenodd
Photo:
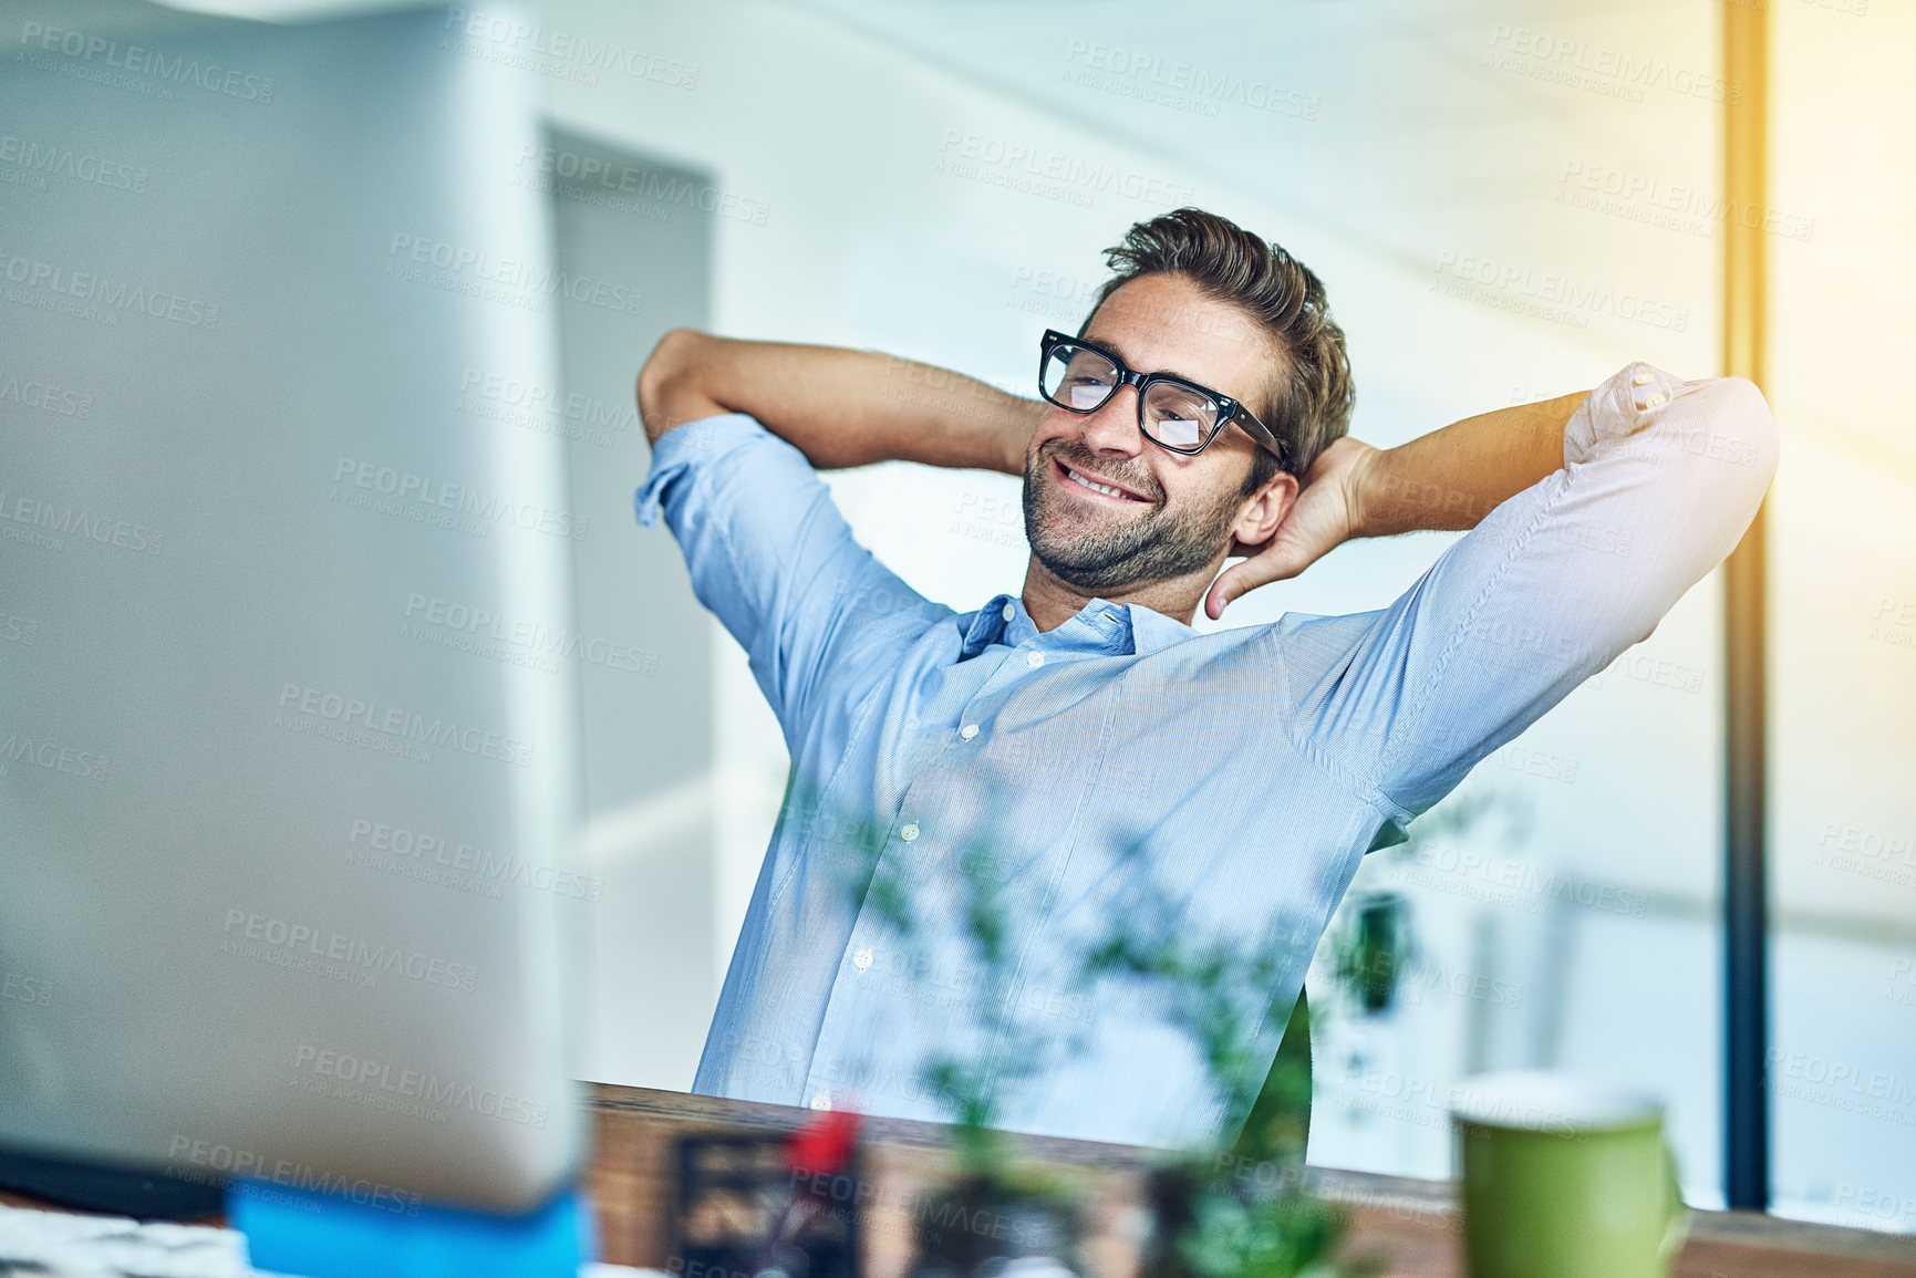
<svg viewBox="0 0 1916 1278"><path fill-rule="evenodd" d="M1167 987L1075 989L1088 947L1153 895L1192 947L1270 947L1270 985L1236 994L1261 1079L1362 855L1648 638L1774 469L1749 381L1631 364L1569 422L1563 469L1389 607L1199 634L1092 600L1040 634L1015 592L960 613L904 584L753 418L665 433L638 521L663 510L791 751L694 1090L950 1121L920 1069L956 1054L1002 1079L1002 1129L1228 1138L1243 1111ZM860 864L912 902L910 935L851 891ZM1006 920L996 991L962 916L979 887Z"/></svg>

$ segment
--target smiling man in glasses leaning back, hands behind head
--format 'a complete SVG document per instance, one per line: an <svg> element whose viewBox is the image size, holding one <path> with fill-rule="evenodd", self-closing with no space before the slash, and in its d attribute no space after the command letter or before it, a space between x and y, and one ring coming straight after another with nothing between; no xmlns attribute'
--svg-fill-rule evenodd
<svg viewBox="0 0 1916 1278"><path fill-rule="evenodd" d="M1190 935L1286 943L1255 1000L1280 1012L1247 1006L1222 1044L1263 1077L1362 855L1648 638L1776 468L1749 381L1648 364L1378 450L1345 435L1343 333L1280 247L1180 209L1109 261L1083 330L1046 335L1040 399L690 331L638 377L638 519L663 508L791 751L697 1092L948 1119L920 1081L945 1056L1004 1083L998 1127L1228 1138L1247 1102L1161 985L1069 985L1117 902L1169 893ZM958 613L858 546L812 468L879 460L1021 475L1021 592ZM1470 531L1385 609L1190 627L1412 529ZM858 843L883 895L845 891ZM960 1016L964 876L1006 902L985 1029Z"/></svg>

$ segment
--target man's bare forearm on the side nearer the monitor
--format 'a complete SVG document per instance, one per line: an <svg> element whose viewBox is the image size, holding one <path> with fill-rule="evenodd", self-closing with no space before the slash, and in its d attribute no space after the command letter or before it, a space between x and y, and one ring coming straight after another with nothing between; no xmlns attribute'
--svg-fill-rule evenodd
<svg viewBox="0 0 1916 1278"><path fill-rule="evenodd" d="M667 333L638 376L653 441L684 422L745 412L818 469L897 460L1021 475L1042 408L889 354L692 330Z"/></svg>

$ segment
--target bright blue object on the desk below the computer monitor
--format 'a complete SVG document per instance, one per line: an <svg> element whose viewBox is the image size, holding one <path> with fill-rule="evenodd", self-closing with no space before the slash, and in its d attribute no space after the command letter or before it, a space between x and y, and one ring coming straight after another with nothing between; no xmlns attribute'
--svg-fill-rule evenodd
<svg viewBox="0 0 1916 1278"><path fill-rule="evenodd" d="M592 1205L577 1188L502 1217L234 1180L226 1221L245 1234L253 1268L301 1278L577 1278L598 1257Z"/></svg>

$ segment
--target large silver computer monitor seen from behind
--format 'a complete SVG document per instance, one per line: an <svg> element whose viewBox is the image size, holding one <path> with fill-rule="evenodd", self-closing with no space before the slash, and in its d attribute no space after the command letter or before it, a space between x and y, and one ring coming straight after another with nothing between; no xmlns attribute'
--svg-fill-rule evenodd
<svg viewBox="0 0 1916 1278"><path fill-rule="evenodd" d="M63 13L0 63L0 1150L527 1207L586 527L460 395L558 381L535 86L448 11Z"/></svg>

